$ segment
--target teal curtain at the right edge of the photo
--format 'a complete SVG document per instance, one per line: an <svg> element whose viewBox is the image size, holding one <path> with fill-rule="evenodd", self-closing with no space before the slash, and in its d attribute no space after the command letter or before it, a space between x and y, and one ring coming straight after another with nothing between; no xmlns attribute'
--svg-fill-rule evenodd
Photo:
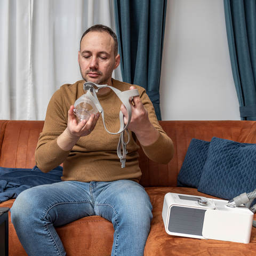
<svg viewBox="0 0 256 256"><path fill-rule="evenodd" d="M256 3L224 0L229 54L242 120L256 120Z"/></svg>

